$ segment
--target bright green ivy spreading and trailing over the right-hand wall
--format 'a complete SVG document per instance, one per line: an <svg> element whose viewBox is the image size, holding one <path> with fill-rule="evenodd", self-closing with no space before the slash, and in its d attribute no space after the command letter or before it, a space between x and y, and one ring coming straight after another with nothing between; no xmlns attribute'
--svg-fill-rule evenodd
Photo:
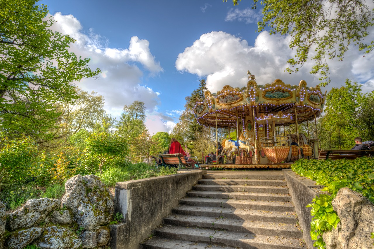
<svg viewBox="0 0 374 249"><path fill-rule="evenodd" d="M315 180L319 185L325 185L321 194L313 199L310 214L310 237L315 240L314 246L325 248L322 234L337 226L340 219L332 208L331 201L342 187L362 193L374 203L374 158L362 157L355 160L298 160L291 166L300 176Z"/></svg>

